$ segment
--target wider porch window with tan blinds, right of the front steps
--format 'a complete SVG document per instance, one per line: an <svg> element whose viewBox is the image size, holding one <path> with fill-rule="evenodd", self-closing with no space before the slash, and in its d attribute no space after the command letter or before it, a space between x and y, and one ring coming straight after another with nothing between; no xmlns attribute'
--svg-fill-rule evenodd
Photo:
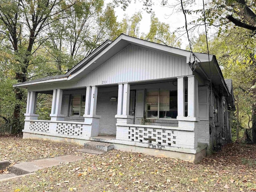
<svg viewBox="0 0 256 192"><path fill-rule="evenodd" d="M177 90L147 90L147 118L176 118L178 115Z"/></svg>

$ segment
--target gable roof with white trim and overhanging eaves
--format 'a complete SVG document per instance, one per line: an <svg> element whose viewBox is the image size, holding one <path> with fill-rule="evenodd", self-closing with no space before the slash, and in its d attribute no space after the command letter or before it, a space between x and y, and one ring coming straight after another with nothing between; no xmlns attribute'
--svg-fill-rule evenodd
<svg viewBox="0 0 256 192"><path fill-rule="evenodd" d="M106 60L112 58L120 50L124 49L128 45L140 46L142 48L150 49L153 51L160 51L166 54L172 54L178 57L186 58L186 63L193 62L194 60L199 61L199 65L196 68L196 73L202 76L204 79L210 80L216 86L224 87L225 96L230 95L230 91L226 83L218 62L214 55L208 55L204 53L191 53L187 50L182 50L179 48L174 48L162 44L157 44L154 42L149 42L146 40L134 38L127 36L125 34L120 34L118 38L114 41L106 40L102 45L100 45L94 52L89 56L84 58L76 66L74 66L69 72L60 76L52 76L47 78L40 78L33 81L27 81L19 84L15 84L14 87L27 88L29 86L35 86L37 84L49 84L49 83L65 83L68 82L78 82L81 78L87 76L90 72L101 66Z"/></svg>

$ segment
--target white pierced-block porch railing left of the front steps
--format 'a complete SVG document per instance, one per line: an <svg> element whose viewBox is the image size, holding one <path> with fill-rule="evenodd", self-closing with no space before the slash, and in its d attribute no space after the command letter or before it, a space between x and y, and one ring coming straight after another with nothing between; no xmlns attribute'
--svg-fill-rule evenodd
<svg viewBox="0 0 256 192"><path fill-rule="evenodd" d="M85 122L25 120L23 132L88 139L91 125Z"/></svg>

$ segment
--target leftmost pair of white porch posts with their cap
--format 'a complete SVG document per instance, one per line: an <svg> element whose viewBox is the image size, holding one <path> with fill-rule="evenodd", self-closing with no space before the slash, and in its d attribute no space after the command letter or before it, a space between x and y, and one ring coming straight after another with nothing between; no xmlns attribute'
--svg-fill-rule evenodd
<svg viewBox="0 0 256 192"><path fill-rule="evenodd" d="M27 108L26 113L24 114L26 120L37 120L38 114L36 113L36 100L37 100L37 92L28 91L27 98Z"/></svg>

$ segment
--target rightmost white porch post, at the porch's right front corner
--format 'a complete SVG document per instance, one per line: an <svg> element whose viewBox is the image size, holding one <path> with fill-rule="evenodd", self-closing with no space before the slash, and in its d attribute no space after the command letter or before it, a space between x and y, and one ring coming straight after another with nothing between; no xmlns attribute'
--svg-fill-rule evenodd
<svg viewBox="0 0 256 192"><path fill-rule="evenodd" d="M188 117L196 116L196 78L188 76Z"/></svg>

